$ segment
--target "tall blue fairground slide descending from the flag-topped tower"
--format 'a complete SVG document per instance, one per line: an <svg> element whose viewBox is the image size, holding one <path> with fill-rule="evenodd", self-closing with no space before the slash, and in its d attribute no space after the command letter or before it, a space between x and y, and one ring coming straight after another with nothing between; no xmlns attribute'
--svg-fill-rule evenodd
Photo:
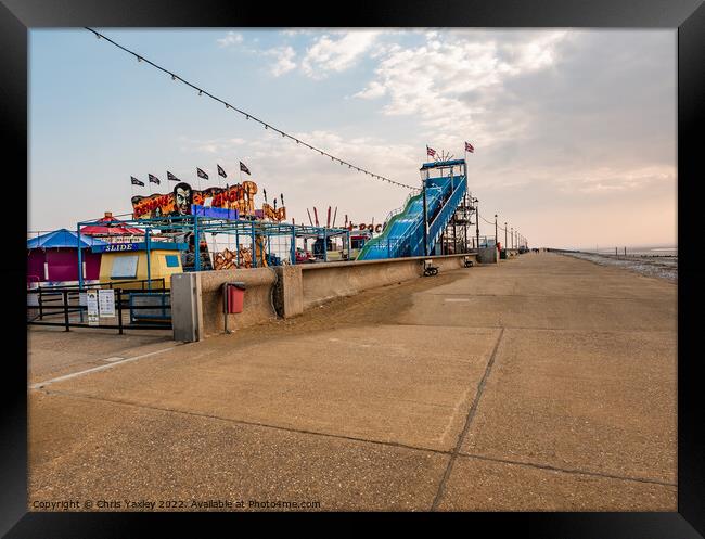
<svg viewBox="0 0 705 539"><path fill-rule="evenodd" d="M467 179L464 175L426 180L428 253L433 252L466 192ZM393 211L386 221L382 234L362 247L358 260L424 256L422 194L409 196L405 205Z"/></svg>

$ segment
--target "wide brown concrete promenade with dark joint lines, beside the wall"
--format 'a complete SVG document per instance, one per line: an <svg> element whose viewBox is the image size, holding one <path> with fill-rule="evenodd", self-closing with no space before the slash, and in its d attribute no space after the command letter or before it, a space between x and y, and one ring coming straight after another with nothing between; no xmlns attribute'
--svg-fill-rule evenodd
<svg viewBox="0 0 705 539"><path fill-rule="evenodd" d="M29 508L676 511L676 293L530 253L188 345L31 331L30 385L116 364L29 390Z"/></svg>

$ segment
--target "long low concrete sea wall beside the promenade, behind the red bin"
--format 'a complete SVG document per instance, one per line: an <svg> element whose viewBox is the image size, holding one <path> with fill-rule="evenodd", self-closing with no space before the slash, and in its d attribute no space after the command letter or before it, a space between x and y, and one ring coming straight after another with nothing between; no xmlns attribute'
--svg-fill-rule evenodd
<svg viewBox="0 0 705 539"><path fill-rule="evenodd" d="M195 335L198 341L225 331L222 285L227 282L246 286L243 312L228 315L228 329L238 331L278 316L295 317L336 297L418 279L423 275L424 260L432 260L443 272L464 268L465 258L477 264L476 255L447 255L182 273L192 275L194 282L171 291L175 339Z"/></svg>

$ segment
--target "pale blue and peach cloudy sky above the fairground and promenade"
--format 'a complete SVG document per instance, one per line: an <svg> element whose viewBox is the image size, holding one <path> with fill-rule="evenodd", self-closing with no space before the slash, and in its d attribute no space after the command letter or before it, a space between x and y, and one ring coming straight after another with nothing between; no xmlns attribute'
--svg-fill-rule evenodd
<svg viewBox="0 0 705 539"><path fill-rule="evenodd" d="M426 145L464 157L479 213L530 246L675 245L676 30L97 28L312 145L420 185ZM85 29L29 34L28 230L131 211L166 170L287 217L382 222L409 191L331 162ZM130 176L146 188L133 188ZM202 180L206 187L206 181ZM172 184L171 184L172 185ZM256 198L261 204L261 195ZM271 202L271 201L270 201ZM312 211L311 211L312 213ZM480 234L493 224L480 219ZM500 231L500 241L502 241Z"/></svg>

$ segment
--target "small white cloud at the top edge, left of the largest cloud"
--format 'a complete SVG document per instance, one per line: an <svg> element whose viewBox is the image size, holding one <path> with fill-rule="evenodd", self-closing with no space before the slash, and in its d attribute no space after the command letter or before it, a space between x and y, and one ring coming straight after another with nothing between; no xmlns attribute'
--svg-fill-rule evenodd
<svg viewBox="0 0 705 539"><path fill-rule="evenodd" d="M339 36L332 39L331 35ZM315 40L302 62L304 73L311 78L324 78L331 72L348 69L370 50L381 35L377 30L326 33Z"/></svg>

